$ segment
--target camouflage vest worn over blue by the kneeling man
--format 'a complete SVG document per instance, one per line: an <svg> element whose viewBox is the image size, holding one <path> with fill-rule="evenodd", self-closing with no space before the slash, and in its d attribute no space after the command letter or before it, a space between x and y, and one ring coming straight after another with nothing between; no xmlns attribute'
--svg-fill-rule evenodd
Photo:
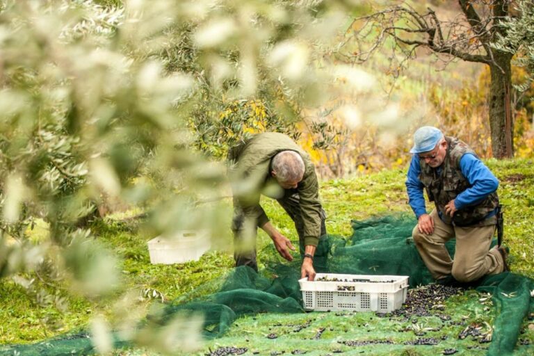
<svg viewBox="0 0 534 356"><path fill-rule="evenodd" d="M441 212L440 216L444 223L457 226L494 225L496 217L492 216L486 219L486 216L499 205L499 197L496 192L489 194L485 200L477 205L456 211L452 219L446 215L446 204L455 199L456 195L471 187L469 181L462 175L462 170L460 170L460 159L466 153L474 154L475 156L476 154L466 143L458 140L458 138L446 137L445 140L448 147L440 175L437 174L437 169L430 167L425 163L425 160L419 160L421 164L419 180L426 188L428 199L430 202L435 202L436 209Z"/></svg>

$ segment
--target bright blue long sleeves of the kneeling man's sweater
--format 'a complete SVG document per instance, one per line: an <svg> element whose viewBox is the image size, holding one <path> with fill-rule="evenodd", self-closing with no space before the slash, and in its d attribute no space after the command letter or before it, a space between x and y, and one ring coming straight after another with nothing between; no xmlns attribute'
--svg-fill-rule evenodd
<svg viewBox="0 0 534 356"><path fill-rule="evenodd" d="M442 168L438 167L436 169L440 173ZM482 202L487 195L493 193L499 187L499 180L473 154L467 153L462 156L462 159L460 159L460 170L462 171L462 175L469 181L469 184L471 184L471 188L467 188L456 196L454 205L457 210ZM408 192L408 203L418 219L419 216L427 213L425 197L423 196L424 186L419 181L419 174L421 174L419 156L414 154L410 168L408 169L406 189ZM494 214L495 211L492 211L487 215L487 218Z"/></svg>

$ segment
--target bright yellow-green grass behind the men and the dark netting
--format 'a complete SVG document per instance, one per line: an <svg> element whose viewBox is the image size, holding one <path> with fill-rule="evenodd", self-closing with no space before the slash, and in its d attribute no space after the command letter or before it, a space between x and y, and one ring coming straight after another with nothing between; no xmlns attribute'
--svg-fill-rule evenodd
<svg viewBox="0 0 534 356"><path fill-rule="evenodd" d="M487 162L489 168L501 181L499 196L505 207L505 244L510 247L510 267L512 272L534 277L534 170L533 161L510 160ZM405 170L387 170L372 175L350 179L334 179L321 184L321 200L327 212L329 234L350 236L350 220L362 220L371 216L389 213L410 213L404 187ZM230 204L230 202L228 202ZM262 201L264 209L273 225L278 227L295 243L298 241L293 224L286 213L273 200ZM429 207L430 209L430 207ZM230 218L230 217L228 217ZM207 281L224 280L232 270L231 237L229 231L221 232L218 248L205 254L200 261L170 266L152 265L143 229L138 229L136 220L114 220L106 218L93 225L92 230L99 241L113 250L120 258L124 286L116 296L106 300L87 300L70 296L68 286L59 282L44 284L36 275L23 275L35 279L35 291L46 291L50 296L43 302L35 292L29 293L11 279L0 280L0 343L31 343L40 341L67 330L87 325L92 316L104 314L109 320L120 321L124 309L131 314L142 316L147 311L150 298L143 297L143 291L157 291L157 296L165 300L189 300L216 291L218 284ZM46 236L46 226L38 224L32 238L38 240ZM258 250L270 245L270 239L259 232ZM260 267L261 255L259 256ZM128 293L127 293L128 292ZM118 298L119 296L128 296ZM67 300L67 308L62 311L60 298ZM126 298L126 299L125 299ZM129 299L128 299L129 298ZM45 298L46 299L46 298ZM476 299L471 297L468 299ZM120 300L127 307L117 307ZM458 305L466 304L458 302ZM469 303L467 303L469 304ZM458 307L456 305L455 307ZM122 312L118 312L122 310ZM122 313L122 314L121 314ZM305 316L298 316L298 318ZM268 316L262 323L268 323ZM276 318L276 317L274 317ZM327 317L325 316L325 320ZM327 323L334 323L330 319ZM341 321L340 321L341 323ZM252 317L243 318L239 325L254 325ZM318 325L318 324L317 324ZM378 327L378 332L382 326ZM262 329L263 330L263 329ZM264 332L264 331L262 331ZM260 337L259 334L254 337ZM528 334L531 339L533 335ZM229 338L241 337L232 329ZM326 337L326 334L325 334ZM356 336L355 336L356 337ZM295 341L297 342L297 341ZM334 341L332 341L334 342ZM215 347L216 343L210 343ZM297 347L297 346L296 346ZM419 349L418 349L419 350ZM415 354L414 354L415 355Z"/></svg>

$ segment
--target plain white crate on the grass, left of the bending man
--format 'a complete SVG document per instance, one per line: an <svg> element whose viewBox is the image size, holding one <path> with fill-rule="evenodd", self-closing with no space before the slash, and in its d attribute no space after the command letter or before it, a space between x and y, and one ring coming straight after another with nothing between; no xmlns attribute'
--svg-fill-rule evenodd
<svg viewBox="0 0 534 356"><path fill-rule="evenodd" d="M209 234L204 230L186 230L172 236L158 236L147 244L152 264L182 264L187 261L197 261L211 247Z"/></svg>

